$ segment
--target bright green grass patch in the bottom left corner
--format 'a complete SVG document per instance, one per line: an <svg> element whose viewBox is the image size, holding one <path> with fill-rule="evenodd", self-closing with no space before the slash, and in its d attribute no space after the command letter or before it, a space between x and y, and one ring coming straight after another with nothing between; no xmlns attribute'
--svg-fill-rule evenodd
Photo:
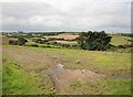
<svg viewBox="0 0 133 97"><path fill-rule="evenodd" d="M3 63L3 94L33 94L39 90L39 83L20 69L13 62Z"/></svg>

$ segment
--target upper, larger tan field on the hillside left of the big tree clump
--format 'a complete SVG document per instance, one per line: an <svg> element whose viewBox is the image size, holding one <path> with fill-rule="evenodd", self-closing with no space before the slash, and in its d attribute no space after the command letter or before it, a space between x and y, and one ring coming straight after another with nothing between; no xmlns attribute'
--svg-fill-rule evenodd
<svg viewBox="0 0 133 97"><path fill-rule="evenodd" d="M74 40L79 35L69 35L69 34L59 34L59 35L51 35L51 36L45 36L45 37L57 37L57 39L64 39L64 40Z"/></svg>

